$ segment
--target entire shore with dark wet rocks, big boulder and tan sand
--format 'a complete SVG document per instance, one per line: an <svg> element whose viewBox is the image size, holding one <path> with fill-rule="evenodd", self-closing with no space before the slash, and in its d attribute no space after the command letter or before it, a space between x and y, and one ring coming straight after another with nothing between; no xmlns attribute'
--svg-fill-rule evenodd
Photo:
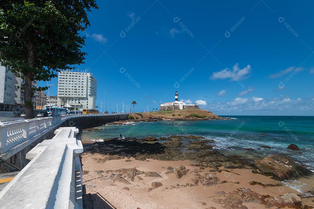
<svg viewBox="0 0 314 209"><path fill-rule="evenodd" d="M83 184L90 196L103 193L116 208L314 206L313 192L305 198L281 182L311 176L305 166L280 155L256 160L226 156L213 149L214 143L188 135L108 138L84 144ZM91 199L95 208L101 208L95 206L99 203L96 196Z"/></svg>

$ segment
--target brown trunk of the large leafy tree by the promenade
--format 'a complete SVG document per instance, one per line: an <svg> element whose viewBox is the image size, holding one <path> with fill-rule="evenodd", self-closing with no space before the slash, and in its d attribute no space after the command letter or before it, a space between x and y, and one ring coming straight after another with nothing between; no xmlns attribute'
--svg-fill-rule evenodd
<svg viewBox="0 0 314 209"><path fill-rule="evenodd" d="M33 43L28 42L27 45L28 56L27 56L27 65L31 68L34 67L34 48ZM24 84L24 111L26 114L26 118L29 119L33 116L33 102L32 102L32 82L33 77L31 74L24 75L25 76L25 84Z"/></svg>

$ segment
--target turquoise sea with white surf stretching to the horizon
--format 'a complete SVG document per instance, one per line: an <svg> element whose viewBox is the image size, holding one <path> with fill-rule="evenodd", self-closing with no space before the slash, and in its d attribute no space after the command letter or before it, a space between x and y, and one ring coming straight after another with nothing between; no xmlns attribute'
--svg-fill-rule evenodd
<svg viewBox="0 0 314 209"><path fill-rule="evenodd" d="M215 147L224 154L263 157L284 154L314 170L314 117L313 116L223 116L232 120L157 121L132 123L130 126L101 126L103 131L83 132L82 140L118 137L142 138L167 135L200 135L215 140ZM289 144L299 151L286 149ZM270 149L262 148L270 146ZM229 147L230 149L227 149ZM244 148L253 148L245 151ZM257 150L260 148L260 150Z"/></svg>

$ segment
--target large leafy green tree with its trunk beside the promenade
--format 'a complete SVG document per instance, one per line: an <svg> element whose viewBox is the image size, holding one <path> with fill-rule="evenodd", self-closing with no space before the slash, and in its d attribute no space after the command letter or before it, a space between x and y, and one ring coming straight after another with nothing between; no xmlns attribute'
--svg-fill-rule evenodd
<svg viewBox="0 0 314 209"><path fill-rule="evenodd" d="M87 12L98 9L95 0L1 0L0 63L24 79L24 111L33 113L32 95L48 87L33 81L50 81L60 70L84 63L81 51L90 25Z"/></svg>

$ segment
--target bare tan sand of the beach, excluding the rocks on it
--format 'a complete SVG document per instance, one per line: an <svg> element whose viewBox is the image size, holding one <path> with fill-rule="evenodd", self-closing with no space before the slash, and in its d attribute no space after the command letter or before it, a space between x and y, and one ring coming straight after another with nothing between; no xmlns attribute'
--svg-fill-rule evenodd
<svg viewBox="0 0 314 209"><path fill-rule="evenodd" d="M99 153L82 154L83 185L86 193L91 193L94 208L126 208L126 209L154 209L154 208L223 208L215 198L224 198L229 193L236 192L238 188L248 188L260 195L269 195L269 199L285 193L300 194L280 181L271 179L261 174L253 174L252 169L225 169L221 172L212 172L212 168L200 170L194 160L164 161L156 159L136 160L134 158L113 159L101 161L108 155ZM126 161L127 160L127 161ZM184 165L189 171L180 179L174 173L165 174L168 166L176 168ZM136 168L140 171L157 172L161 177L149 177L145 174L136 175L134 180L122 174L127 181L114 181L111 174L117 175L118 169ZM223 169L223 168L221 168ZM194 185L196 176L208 176L214 174L219 182L217 185ZM138 176L140 178L138 178ZM211 175L213 176L213 175ZM142 180L141 180L142 179ZM152 182L158 181L162 186L149 191ZM226 182L225 182L226 181ZM280 186L250 185L249 182ZM187 184L193 186L186 186ZM125 188L127 187L127 188ZM106 200L104 200L104 198ZM266 198L267 199L267 198ZM302 205L314 206L313 197L302 198ZM243 203L247 208L266 208L259 203ZM277 208L277 207L271 207Z"/></svg>

